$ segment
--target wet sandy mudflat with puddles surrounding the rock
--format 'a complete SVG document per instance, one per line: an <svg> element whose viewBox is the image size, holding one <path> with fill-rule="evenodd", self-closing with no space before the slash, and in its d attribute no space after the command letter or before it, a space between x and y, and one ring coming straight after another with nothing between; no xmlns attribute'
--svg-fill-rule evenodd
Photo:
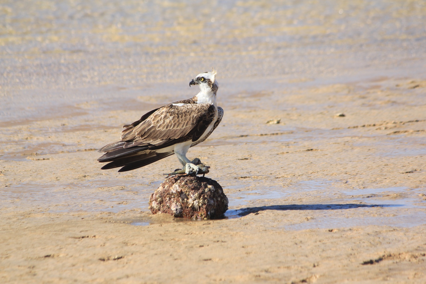
<svg viewBox="0 0 426 284"><path fill-rule="evenodd" d="M188 155L224 185L222 220L150 214L149 196L176 167L173 156L124 174L100 170L98 145L140 111L89 106L86 115L3 127L0 277L422 283L426 110L424 81L412 81L223 99L224 126ZM248 111L233 107L241 98ZM289 107L256 108L265 98Z"/></svg>

